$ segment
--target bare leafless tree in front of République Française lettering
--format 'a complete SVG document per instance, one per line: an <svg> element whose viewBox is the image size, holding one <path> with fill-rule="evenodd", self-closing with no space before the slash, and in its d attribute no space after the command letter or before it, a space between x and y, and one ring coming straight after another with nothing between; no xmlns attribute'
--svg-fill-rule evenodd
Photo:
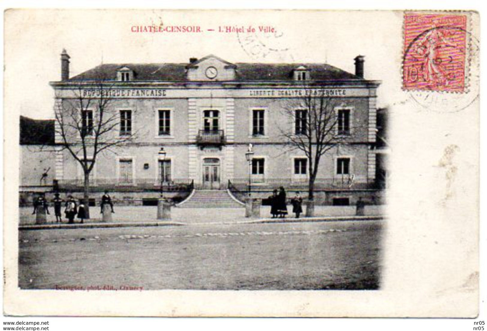
<svg viewBox="0 0 487 331"><path fill-rule="evenodd" d="M83 171L83 201L89 206L90 174L97 157L123 146L136 136L127 118L121 127L121 114L113 107L113 80L103 74L90 81L70 83L71 96L56 90L55 133L57 150L68 151ZM127 127L130 125L130 128ZM120 128L120 129L119 129ZM123 130L122 130L123 129ZM60 149L59 149L60 147ZM89 213L87 215L89 218Z"/></svg>

